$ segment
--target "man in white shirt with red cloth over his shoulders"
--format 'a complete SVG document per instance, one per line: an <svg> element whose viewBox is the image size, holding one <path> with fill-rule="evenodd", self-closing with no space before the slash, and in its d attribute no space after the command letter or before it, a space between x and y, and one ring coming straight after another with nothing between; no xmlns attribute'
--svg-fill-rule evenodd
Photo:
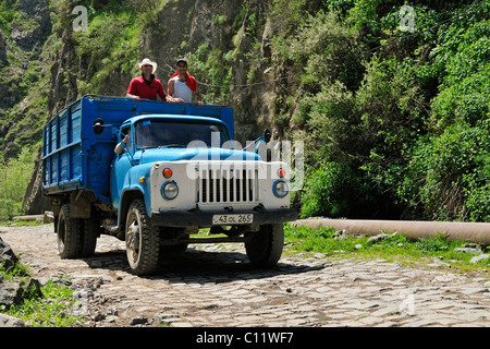
<svg viewBox="0 0 490 349"><path fill-rule="evenodd" d="M197 88L197 80L187 72L187 61L183 58L176 62L176 72L169 80L169 96L172 96L179 103L191 103L193 93L196 95L196 101L203 105L199 89Z"/></svg>

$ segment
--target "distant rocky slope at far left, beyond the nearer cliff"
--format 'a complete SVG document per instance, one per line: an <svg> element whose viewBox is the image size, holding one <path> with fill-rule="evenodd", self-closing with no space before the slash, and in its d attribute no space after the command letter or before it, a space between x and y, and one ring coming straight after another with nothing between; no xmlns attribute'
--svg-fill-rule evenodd
<svg viewBox="0 0 490 349"><path fill-rule="evenodd" d="M12 23L0 27L0 152L9 158L40 137L46 106L39 106L38 93L47 91L41 85L50 63L44 47L52 23L47 0L4 1L3 5L15 11L12 19L4 19Z"/></svg>

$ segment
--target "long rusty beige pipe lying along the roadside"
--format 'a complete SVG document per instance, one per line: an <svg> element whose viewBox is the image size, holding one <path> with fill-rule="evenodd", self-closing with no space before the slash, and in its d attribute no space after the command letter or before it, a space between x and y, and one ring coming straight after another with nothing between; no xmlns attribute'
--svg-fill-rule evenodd
<svg viewBox="0 0 490 349"><path fill-rule="evenodd" d="M356 220L356 219L298 219L293 226L310 228L333 227L345 229L353 236L375 236L380 232L399 232L408 239L433 238L442 234L448 240L470 240L490 245L490 222L418 221L418 220Z"/></svg>

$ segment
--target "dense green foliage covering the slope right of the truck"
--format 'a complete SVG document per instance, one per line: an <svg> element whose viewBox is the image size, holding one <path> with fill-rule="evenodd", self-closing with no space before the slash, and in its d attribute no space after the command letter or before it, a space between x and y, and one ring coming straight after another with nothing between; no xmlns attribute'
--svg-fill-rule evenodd
<svg viewBox="0 0 490 349"><path fill-rule="evenodd" d="M404 4L414 32L400 27ZM274 112L306 142L303 217L489 221L488 10L273 1L273 48L297 85Z"/></svg>

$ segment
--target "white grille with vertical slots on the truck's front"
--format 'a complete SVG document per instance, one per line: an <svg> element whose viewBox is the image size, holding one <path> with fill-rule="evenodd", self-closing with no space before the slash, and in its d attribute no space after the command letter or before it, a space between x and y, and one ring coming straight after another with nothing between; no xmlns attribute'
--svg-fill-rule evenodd
<svg viewBox="0 0 490 349"><path fill-rule="evenodd" d="M257 169L244 169L243 166L199 169L199 203L246 203L258 200Z"/></svg>

